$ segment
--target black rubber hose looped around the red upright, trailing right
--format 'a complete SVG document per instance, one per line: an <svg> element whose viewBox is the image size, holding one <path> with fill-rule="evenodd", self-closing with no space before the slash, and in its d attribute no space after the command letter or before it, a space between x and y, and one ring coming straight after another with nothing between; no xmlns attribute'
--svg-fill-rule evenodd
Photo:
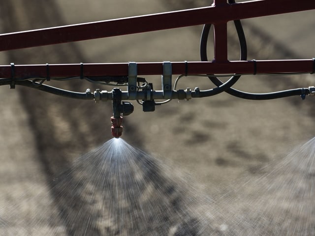
<svg viewBox="0 0 315 236"><path fill-rule="evenodd" d="M228 0L230 4L235 3L235 0ZM240 20L235 20L234 25L237 31L237 35L240 41L240 50L241 50L241 60L247 60L247 44L246 44L246 38L244 34L244 30L241 24ZM211 29L211 24L206 24L203 27L202 33L201 33L201 39L200 39L200 58L201 61L208 61L207 57L207 41L209 37L209 32ZM240 76L236 77L237 79L240 78ZM223 82L214 76L209 76L209 79L218 87L223 85ZM239 97L243 99L250 99L250 100L269 100L269 99L276 99L276 98L282 98L282 97L288 97L288 96L294 96L294 95L303 95L305 94L306 89L289 89L284 91L277 91L277 92L269 92L269 93L250 93L250 92L244 92L233 88L227 88L225 92ZM200 91L202 92L202 91ZM197 95L197 94L196 94ZM198 95L197 95L198 96Z"/></svg>

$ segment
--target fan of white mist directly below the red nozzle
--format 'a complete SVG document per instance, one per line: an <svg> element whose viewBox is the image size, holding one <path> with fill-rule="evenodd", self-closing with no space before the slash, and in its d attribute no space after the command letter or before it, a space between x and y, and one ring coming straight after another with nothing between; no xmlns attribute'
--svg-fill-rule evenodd
<svg viewBox="0 0 315 236"><path fill-rule="evenodd" d="M192 186L149 154L112 139L54 179L69 235L208 235Z"/></svg>

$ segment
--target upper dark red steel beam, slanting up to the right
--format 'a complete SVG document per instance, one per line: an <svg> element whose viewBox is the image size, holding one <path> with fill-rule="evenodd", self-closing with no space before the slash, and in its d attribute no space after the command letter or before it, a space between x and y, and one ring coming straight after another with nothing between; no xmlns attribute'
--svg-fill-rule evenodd
<svg viewBox="0 0 315 236"><path fill-rule="evenodd" d="M315 0L221 1L209 7L0 34L0 51L315 9Z"/></svg>

